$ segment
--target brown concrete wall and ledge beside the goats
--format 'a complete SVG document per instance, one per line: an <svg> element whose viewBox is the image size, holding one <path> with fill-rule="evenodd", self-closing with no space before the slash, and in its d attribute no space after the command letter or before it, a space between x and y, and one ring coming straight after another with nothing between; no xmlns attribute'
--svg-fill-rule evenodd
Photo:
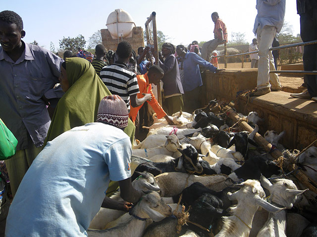
<svg viewBox="0 0 317 237"><path fill-rule="evenodd" d="M266 130L286 134L281 144L287 149L302 150L317 139L316 102L291 99L288 92L270 92L259 97L237 97L237 92L257 85L257 69L207 71L203 77L202 107L212 99L230 102L234 100L238 112L247 115L256 111L260 118L260 134Z"/></svg>

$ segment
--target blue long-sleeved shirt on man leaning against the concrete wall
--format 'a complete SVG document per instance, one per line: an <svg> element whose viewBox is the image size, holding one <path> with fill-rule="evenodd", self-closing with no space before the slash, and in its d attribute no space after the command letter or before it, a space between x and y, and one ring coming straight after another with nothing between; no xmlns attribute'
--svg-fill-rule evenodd
<svg viewBox="0 0 317 237"><path fill-rule="evenodd" d="M187 52L183 59L183 69L184 69L184 91L191 91L198 86L203 85L202 76L200 75L199 65L210 70L211 72L216 71L211 63L207 62L196 53Z"/></svg>

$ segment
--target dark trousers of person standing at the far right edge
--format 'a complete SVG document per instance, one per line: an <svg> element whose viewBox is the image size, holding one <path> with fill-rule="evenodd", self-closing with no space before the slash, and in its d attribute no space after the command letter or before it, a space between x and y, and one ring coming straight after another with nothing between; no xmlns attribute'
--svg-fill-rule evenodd
<svg viewBox="0 0 317 237"><path fill-rule="evenodd" d="M317 8L310 9L301 16L301 38L303 42L317 40ZM303 54L305 71L317 70L317 44L305 45ZM305 75L304 82L312 97L317 96L317 76Z"/></svg>

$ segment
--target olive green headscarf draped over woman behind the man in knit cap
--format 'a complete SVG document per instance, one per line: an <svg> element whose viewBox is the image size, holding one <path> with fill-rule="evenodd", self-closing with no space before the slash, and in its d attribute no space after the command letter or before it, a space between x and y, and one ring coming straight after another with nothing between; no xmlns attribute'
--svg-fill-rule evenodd
<svg viewBox="0 0 317 237"><path fill-rule="evenodd" d="M60 98L44 145L76 126L96 121L101 100L111 95L94 67L83 58L66 58L69 89ZM129 119L124 132L133 142L135 127Z"/></svg>

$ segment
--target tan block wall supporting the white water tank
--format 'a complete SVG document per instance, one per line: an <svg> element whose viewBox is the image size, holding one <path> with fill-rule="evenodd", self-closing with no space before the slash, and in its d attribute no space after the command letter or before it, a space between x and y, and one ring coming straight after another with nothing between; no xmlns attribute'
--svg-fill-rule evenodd
<svg viewBox="0 0 317 237"><path fill-rule="evenodd" d="M110 32L108 29L101 29L101 37L103 40L103 44L106 49L111 49L115 51L118 46L118 40L112 40ZM132 48L134 49L135 53L138 55L138 48L143 46L144 47L144 40L143 40L143 30L142 27L133 27L133 33L131 38L123 38L123 40L127 40L131 43ZM121 39L119 39L119 42Z"/></svg>

